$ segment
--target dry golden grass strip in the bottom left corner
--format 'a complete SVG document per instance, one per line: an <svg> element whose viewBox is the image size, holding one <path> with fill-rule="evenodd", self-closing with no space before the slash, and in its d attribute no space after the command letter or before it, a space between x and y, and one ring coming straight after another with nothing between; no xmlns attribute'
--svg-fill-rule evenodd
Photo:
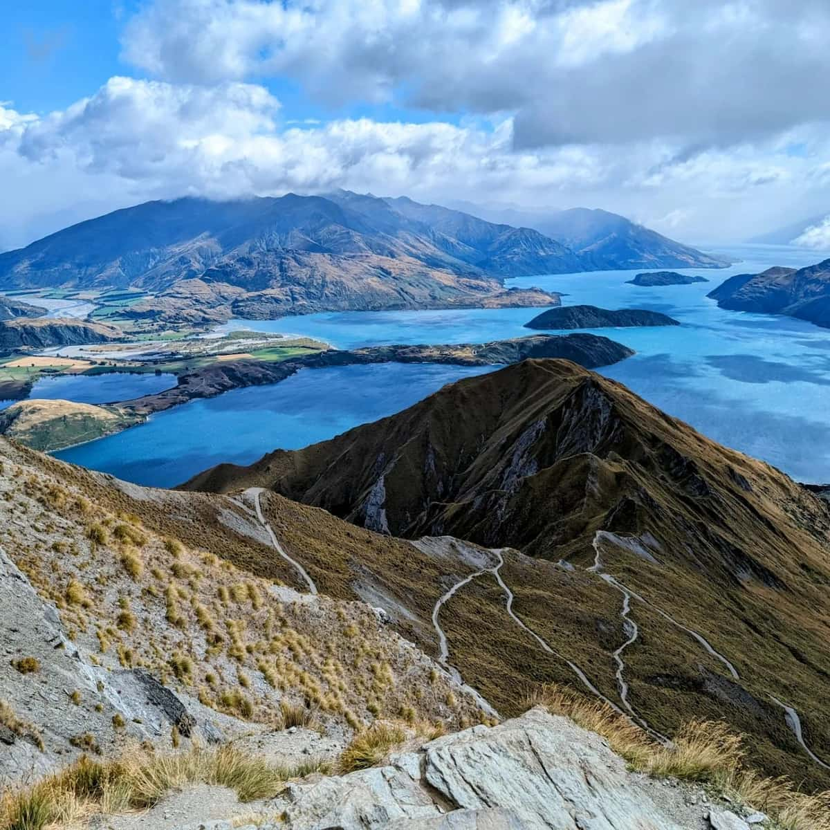
<svg viewBox="0 0 830 830"><path fill-rule="evenodd" d="M194 747L178 754L137 750L106 762L83 756L31 788L4 793L0 830L41 830L95 813L146 809L187 784L227 787L243 802L271 798L285 781L327 770L326 764L313 759L291 768L272 767L228 746Z"/></svg>

